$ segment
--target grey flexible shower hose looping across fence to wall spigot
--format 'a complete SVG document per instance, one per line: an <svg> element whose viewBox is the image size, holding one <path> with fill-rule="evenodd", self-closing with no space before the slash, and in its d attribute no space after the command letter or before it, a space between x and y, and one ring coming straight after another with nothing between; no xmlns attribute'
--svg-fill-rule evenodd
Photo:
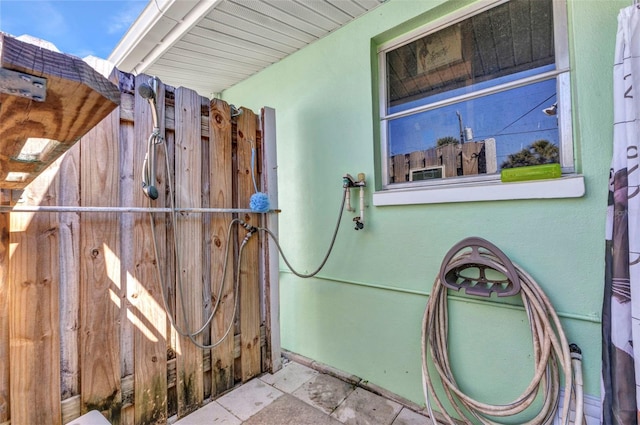
<svg viewBox="0 0 640 425"><path fill-rule="evenodd" d="M154 144L160 144L163 146L164 148L164 157L165 157L165 166L167 167L166 169L169 170L169 155L167 152L167 146L166 143L164 143L164 140L162 138L160 138L158 135L156 135L155 133L152 134L151 137L154 137L152 142L150 142L150 146L154 145ZM144 168L144 167L143 167ZM173 191L173 182L171 179L171 173L167 173L167 184L169 187L169 202L170 202L170 208L171 208L171 224L173 226L174 231L173 233L173 252L175 255L175 262L176 262L176 268L179 270L180 269L180 255L179 255L179 250L178 250L178 239L177 239L177 235L176 235L176 208L175 208L175 201L174 201L174 191ZM345 192L348 190L348 188L345 188ZM227 276L227 264L229 263L229 246L230 241L231 241L231 231L233 229L234 225L239 225L244 227L247 230L247 233L244 237L244 239L242 240L242 242L240 243L240 248L238 250L238 258L242 258L242 252L244 250L244 247L246 246L247 242L249 242L249 239L257 232L264 232L266 234L268 234L273 241L276 244L276 247L278 248L278 251L280 252L280 255L282 255L282 258L284 260L284 262L286 263L287 267L289 267L289 269L298 277L301 278L309 278L309 277L313 277L316 274L318 274L318 272L320 272L320 270L322 270L322 268L324 267L324 265L326 264L327 260L329 259L329 256L331 255L331 251L333 249L333 245L336 241L336 236L338 235L338 230L340 229L340 223L342 221L342 211L344 210L344 204L345 204L345 198L346 196L343 194L342 196L342 204L340 205L340 210L339 210L339 214L338 214L338 219L336 222L336 227L334 229L333 232L333 236L331 238L331 243L329 244L329 248L327 250L327 253L324 256L324 259L322 260L322 262L320 263L320 265L318 266L318 268L316 270L314 270L311 273L301 273L296 271L291 264L289 263L289 260L287 259L287 257L284 255L284 252L280 246L280 242L278 241L278 238L276 237L276 235L269 230L266 227L256 227L256 226L252 226L248 223L245 223L243 220L240 220L238 218L234 218L229 222L229 226L227 229L227 243L226 243L226 247L225 247L225 253L224 253L224 265L222 268L222 276L220 277L220 284L218 285L218 292L215 296L215 304L213 305L213 307L211 308L211 311L209 312L206 320L204 321L204 323L197 329L197 330L193 330L190 324L190 320L189 317L187 315L187 310L186 310L186 305L185 305L185 297L184 297L184 288L183 288L183 281L182 281L182 274L181 273L176 273L176 286L177 286L177 299L180 302L180 306L181 306L181 311L182 311L182 323L184 324L184 327L179 326L176 320L176 314L173 311L173 309L171 308L171 303L169 302L169 294L168 294L168 286L166 283L166 279L164 277L164 275L162 274L162 270L160 269L160 258L159 258L159 248L158 248L158 242L157 242L157 237L156 237L156 224L155 224L155 220L153 217L153 213L149 213L149 221L150 221L150 225L151 225L151 235L152 235L152 239L153 239L153 251L154 251L154 258L155 258L155 264L156 264L156 273L158 276L158 282L160 285L160 292L162 293L162 302L163 302L163 307L165 312L167 313L167 316L169 318L169 322L171 323L171 326L175 329L175 331L183 337L188 338L195 346L197 346L198 348L201 348L203 350L208 350L211 348L215 348L216 346L220 345L230 334L231 329L233 328L233 324L235 322L235 316L238 310L238 296L234 297L234 305L233 305L233 313L231 315L231 318L229 319L229 323L227 325L227 327L225 328L225 331L223 332L223 334L214 342L210 343L210 344L203 344L200 341L198 341L197 337L199 335L201 335L207 328L208 326L211 324L211 321L213 320L214 316L216 315L216 313L218 312L218 309L220 307L220 300L223 298L223 291L224 291L224 282L226 281L226 276ZM149 198L149 206L151 207L151 202L152 199ZM240 264L241 261L238 260L237 262L237 267L236 267L236 273L235 273L235 282L234 282L234 294L238 294L239 292L239 287L240 287Z"/></svg>

